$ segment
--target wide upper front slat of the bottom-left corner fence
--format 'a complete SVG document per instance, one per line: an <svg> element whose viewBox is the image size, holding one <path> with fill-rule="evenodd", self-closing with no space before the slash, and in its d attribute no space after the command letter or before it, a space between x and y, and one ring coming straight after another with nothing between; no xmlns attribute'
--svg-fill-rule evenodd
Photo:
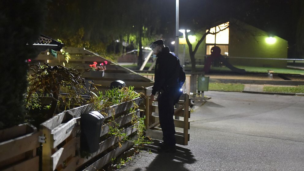
<svg viewBox="0 0 304 171"><path fill-rule="evenodd" d="M0 143L0 161L39 147L38 136L39 132L33 132Z"/></svg>

